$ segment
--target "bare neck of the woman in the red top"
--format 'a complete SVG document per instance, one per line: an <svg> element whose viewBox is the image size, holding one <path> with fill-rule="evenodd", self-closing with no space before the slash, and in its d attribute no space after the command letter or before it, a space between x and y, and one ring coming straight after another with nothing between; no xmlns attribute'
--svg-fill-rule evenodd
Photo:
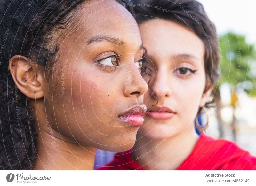
<svg viewBox="0 0 256 186"><path fill-rule="evenodd" d="M132 158L146 170L176 170L193 151L198 135L193 130L164 139L148 138L138 132Z"/></svg>

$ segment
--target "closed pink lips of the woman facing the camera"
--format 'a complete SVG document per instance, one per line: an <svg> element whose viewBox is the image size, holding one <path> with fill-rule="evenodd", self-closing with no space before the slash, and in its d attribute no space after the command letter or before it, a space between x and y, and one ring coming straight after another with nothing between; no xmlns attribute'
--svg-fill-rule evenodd
<svg viewBox="0 0 256 186"><path fill-rule="evenodd" d="M147 116L155 120L166 120L174 117L177 113L168 107L154 106L147 112Z"/></svg>

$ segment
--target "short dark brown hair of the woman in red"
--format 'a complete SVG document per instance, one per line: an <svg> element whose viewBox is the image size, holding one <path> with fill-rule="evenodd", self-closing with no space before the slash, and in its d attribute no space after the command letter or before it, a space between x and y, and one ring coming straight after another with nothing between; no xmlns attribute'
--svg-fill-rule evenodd
<svg viewBox="0 0 256 186"><path fill-rule="evenodd" d="M204 70L206 74L205 90L208 91L219 78L219 45L215 25L210 21L204 7L196 0L132 0L134 17L138 25L151 19L164 19L176 22L190 29L204 43ZM214 96L205 107L214 106ZM199 108L198 113L202 111ZM205 127L197 127L202 132Z"/></svg>

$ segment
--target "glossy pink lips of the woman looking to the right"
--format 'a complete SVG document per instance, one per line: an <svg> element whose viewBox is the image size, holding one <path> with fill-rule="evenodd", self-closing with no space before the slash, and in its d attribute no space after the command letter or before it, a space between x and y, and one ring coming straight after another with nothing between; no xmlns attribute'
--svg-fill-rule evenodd
<svg viewBox="0 0 256 186"><path fill-rule="evenodd" d="M129 123L131 125L141 126L143 125L143 121L144 121L142 116L145 115L146 111L147 111L147 108L145 106L135 107L127 111L123 115L119 116L118 118L120 118L122 121Z"/></svg>

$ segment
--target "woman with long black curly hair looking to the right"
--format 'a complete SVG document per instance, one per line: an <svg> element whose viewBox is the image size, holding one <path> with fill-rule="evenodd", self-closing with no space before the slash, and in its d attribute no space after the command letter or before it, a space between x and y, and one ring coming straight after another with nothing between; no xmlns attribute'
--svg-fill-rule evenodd
<svg viewBox="0 0 256 186"><path fill-rule="evenodd" d="M124 6L1 1L0 169L93 169L96 148L133 146L147 84Z"/></svg>

